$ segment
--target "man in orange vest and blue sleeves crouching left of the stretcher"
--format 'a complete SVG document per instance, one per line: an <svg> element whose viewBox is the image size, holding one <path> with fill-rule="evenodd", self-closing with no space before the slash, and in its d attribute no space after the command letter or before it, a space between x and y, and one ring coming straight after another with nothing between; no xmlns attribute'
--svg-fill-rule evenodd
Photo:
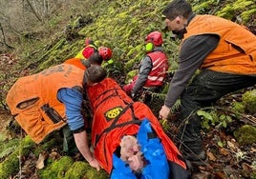
<svg viewBox="0 0 256 179"><path fill-rule="evenodd" d="M90 166L100 169L89 149L86 119L82 115L88 73L95 83L106 75L100 66L80 70L74 65L60 64L19 78L9 90L6 101L15 120L35 143L68 124L77 149Z"/></svg>

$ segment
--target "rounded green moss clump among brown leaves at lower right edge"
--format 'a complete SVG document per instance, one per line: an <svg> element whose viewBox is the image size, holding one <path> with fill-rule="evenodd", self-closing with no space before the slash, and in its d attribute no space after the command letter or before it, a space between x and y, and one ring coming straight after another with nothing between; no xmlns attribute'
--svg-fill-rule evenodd
<svg viewBox="0 0 256 179"><path fill-rule="evenodd" d="M240 145L253 144L256 142L256 128L245 125L234 131L234 136Z"/></svg>

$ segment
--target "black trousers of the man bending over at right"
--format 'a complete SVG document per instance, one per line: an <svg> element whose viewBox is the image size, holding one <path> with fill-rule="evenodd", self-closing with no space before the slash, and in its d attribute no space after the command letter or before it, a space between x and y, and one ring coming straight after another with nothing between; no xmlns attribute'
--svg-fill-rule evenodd
<svg viewBox="0 0 256 179"><path fill-rule="evenodd" d="M201 118L197 109L211 106L229 92L256 84L256 76L237 75L213 70L201 71L181 94L181 118L188 123L181 127L179 137L184 145L199 154L203 150L200 134Z"/></svg>

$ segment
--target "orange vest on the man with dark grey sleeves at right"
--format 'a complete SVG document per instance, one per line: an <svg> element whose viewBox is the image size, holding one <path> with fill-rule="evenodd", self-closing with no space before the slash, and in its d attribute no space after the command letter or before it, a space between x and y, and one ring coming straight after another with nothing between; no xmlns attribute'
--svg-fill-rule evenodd
<svg viewBox="0 0 256 179"><path fill-rule="evenodd" d="M186 30L183 41L201 34L220 37L218 47L205 58L202 69L256 75L256 36L249 30L213 15L197 15Z"/></svg>

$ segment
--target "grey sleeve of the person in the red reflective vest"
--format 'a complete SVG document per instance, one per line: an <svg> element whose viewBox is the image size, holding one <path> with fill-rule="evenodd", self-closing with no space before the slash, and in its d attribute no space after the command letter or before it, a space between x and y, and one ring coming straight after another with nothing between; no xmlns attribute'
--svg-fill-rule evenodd
<svg viewBox="0 0 256 179"><path fill-rule="evenodd" d="M147 81L148 74L152 70L152 68L153 65L150 57L145 56L142 59L141 66L139 68L138 79L136 81L134 88L132 89L132 93L136 93L137 91L139 91L139 89L141 89L144 86L144 84Z"/></svg>

